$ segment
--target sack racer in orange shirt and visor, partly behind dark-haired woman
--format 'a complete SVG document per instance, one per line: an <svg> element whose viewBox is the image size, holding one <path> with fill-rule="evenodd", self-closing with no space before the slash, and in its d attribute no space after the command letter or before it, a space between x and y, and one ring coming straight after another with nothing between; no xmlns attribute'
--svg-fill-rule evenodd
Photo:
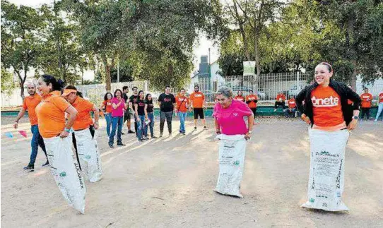
<svg viewBox="0 0 383 228"><path fill-rule="evenodd" d="M83 174L85 174L90 182L100 181L102 178L100 151L93 137L95 130L98 129L98 107L83 99L81 93L73 85L68 85L61 96L72 104L78 112L73 124L73 131L76 136L81 171L83 171ZM93 112L95 115L94 124L90 112Z"/></svg>

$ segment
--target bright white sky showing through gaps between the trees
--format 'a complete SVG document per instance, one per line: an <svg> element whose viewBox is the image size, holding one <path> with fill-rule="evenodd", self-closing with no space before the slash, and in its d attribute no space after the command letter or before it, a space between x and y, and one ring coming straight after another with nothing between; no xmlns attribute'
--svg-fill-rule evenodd
<svg viewBox="0 0 383 228"><path fill-rule="evenodd" d="M32 6L32 7L37 7L37 6L40 6L41 4L49 4L53 2L53 0L8 0L8 1L16 5L25 5L25 6ZM211 63L213 63L214 61L218 59L218 56L219 56L218 46L214 46L213 41L208 40L206 38L206 35L204 34L199 35L199 43L195 44L193 49L193 54L194 54L194 60L193 60L194 70L193 71L199 70L199 62L201 59L201 55L208 55L209 47L210 47ZM85 80L93 80L93 78L94 78L93 71L86 71L86 73L84 73Z"/></svg>

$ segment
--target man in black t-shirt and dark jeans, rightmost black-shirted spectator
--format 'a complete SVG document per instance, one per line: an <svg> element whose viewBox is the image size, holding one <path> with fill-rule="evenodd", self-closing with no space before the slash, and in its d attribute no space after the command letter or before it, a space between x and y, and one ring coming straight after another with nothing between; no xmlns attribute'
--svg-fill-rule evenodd
<svg viewBox="0 0 383 228"><path fill-rule="evenodd" d="M175 109L175 96L170 93L170 86L165 87L165 93L158 97L160 102L160 137L163 136L163 126L167 121L167 130L172 134L172 116Z"/></svg>

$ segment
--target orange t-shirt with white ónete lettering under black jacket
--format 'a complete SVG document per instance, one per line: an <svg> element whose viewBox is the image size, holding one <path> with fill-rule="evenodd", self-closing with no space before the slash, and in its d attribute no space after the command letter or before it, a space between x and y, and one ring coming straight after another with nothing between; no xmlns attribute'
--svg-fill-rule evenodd
<svg viewBox="0 0 383 228"><path fill-rule="evenodd" d="M341 97L331 87L318 86L311 92L314 124L319 127L346 126Z"/></svg>

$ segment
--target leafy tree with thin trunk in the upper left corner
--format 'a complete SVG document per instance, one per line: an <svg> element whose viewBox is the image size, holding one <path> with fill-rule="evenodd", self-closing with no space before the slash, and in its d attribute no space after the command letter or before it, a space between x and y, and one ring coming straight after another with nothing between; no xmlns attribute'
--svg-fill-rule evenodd
<svg viewBox="0 0 383 228"><path fill-rule="evenodd" d="M42 28L44 21L34 8L1 1L1 64L17 74L23 99L27 72L42 54Z"/></svg>

